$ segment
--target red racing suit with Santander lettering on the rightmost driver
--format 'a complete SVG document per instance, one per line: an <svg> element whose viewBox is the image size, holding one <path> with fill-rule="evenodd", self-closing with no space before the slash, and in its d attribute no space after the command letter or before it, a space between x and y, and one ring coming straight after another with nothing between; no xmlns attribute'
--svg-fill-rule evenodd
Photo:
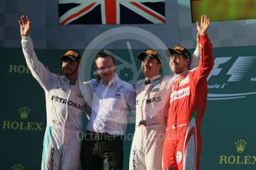
<svg viewBox="0 0 256 170"><path fill-rule="evenodd" d="M200 63L176 75L171 88L168 123L163 146L163 168L199 169L200 125L207 100L207 76L214 66L211 41L200 35Z"/></svg>

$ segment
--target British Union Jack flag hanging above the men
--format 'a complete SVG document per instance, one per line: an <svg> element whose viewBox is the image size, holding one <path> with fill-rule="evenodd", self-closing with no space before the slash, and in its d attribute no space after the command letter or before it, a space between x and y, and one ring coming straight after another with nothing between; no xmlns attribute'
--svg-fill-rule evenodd
<svg viewBox="0 0 256 170"><path fill-rule="evenodd" d="M59 0L59 24L165 24L165 0Z"/></svg>

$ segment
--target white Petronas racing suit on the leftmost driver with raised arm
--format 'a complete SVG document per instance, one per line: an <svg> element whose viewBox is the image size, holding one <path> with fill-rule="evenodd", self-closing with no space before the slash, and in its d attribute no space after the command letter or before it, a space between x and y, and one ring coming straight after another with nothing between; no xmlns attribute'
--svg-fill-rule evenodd
<svg viewBox="0 0 256 170"><path fill-rule="evenodd" d="M45 90L47 126L42 169L78 169L82 146L82 114L85 100L78 81L49 72L38 60L30 37L22 38L22 50L32 75ZM71 85L72 84L72 85Z"/></svg>

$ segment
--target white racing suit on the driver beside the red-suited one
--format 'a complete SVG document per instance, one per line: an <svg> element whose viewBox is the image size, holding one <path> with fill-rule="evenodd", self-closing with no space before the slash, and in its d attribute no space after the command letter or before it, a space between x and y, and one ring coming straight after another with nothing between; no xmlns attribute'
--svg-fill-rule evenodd
<svg viewBox="0 0 256 170"><path fill-rule="evenodd" d="M191 68L197 67L200 50L195 50ZM160 75L136 84L136 122L129 160L130 170L160 170L173 79ZM144 122L142 122L144 120ZM141 125L140 125L141 122Z"/></svg>

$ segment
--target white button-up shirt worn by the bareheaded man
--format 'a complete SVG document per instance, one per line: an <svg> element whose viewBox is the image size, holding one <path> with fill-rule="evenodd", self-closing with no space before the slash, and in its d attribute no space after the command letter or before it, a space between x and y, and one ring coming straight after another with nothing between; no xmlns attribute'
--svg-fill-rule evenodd
<svg viewBox="0 0 256 170"><path fill-rule="evenodd" d="M127 127L128 110L135 112L136 94L134 87L114 75L108 86L95 79L87 81L93 90L91 118L87 129L91 132L124 135Z"/></svg>

